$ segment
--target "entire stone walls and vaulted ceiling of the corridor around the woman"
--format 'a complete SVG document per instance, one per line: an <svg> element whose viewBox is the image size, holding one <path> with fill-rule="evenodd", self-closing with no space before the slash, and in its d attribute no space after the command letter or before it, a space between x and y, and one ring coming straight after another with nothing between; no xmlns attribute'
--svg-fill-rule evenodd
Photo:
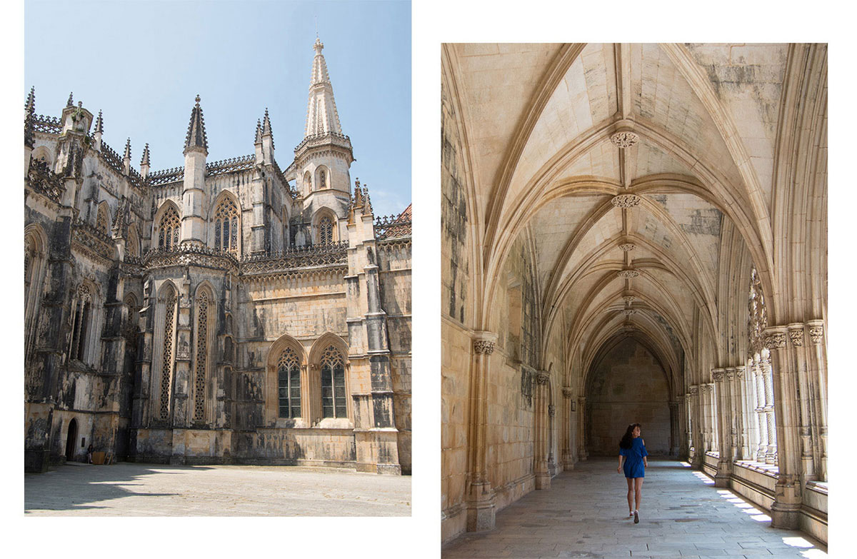
<svg viewBox="0 0 857 559"><path fill-rule="evenodd" d="M631 422L826 541L826 92L826 45L441 46L444 541Z"/></svg>

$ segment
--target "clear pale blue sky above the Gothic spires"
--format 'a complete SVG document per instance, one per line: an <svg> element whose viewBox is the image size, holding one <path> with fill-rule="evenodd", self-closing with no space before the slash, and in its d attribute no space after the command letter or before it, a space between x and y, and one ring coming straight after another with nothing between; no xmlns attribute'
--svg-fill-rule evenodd
<svg viewBox="0 0 857 559"><path fill-rule="evenodd" d="M303 139L316 18L351 180L369 184L375 215L411 202L410 2L49 2L24 12L25 99L58 117L75 93L104 112L104 140L132 165L143 145L152 170L184 165L194 97L201 96L208 160L254 152L256 120L271 117L285 169Z"/></svg>

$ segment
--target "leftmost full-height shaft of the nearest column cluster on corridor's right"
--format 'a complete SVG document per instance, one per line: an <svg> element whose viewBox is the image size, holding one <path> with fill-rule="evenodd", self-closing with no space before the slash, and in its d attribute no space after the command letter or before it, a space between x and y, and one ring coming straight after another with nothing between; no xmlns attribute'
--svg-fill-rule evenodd
<svg viewBox="0 0 857 559"><path fill-rule="evenodd" d="M797 394L794 371L786 347L787 328L764 330L764 345L770 352L770 369L776 413L776 454L779 474L774 502L770 507L770 526L795 529L800 517L800 438L797 424Z"/></svg>

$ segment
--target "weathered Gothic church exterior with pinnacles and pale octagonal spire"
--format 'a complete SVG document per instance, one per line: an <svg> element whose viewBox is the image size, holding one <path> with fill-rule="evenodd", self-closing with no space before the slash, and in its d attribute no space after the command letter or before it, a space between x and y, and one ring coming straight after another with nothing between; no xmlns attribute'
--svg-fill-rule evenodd
<svg viewBox="0 0 857 559"><path fill-rule="evenodd" d="M83 460L411 471L411 208L355 181L316 40L307 128L282 168L140 171L79 102L25 122L27 471Z"/></svg>

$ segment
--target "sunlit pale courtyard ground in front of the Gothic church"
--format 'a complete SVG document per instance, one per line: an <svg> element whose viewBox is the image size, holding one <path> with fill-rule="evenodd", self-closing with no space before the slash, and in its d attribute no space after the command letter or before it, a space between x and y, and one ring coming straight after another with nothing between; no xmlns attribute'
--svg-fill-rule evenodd
<svg viewBox="0 0 857 559"><path fill-rule="evenodd" d="M69 464L24 476L33 516L410 516L411 477L294 466Z"/></svg>

